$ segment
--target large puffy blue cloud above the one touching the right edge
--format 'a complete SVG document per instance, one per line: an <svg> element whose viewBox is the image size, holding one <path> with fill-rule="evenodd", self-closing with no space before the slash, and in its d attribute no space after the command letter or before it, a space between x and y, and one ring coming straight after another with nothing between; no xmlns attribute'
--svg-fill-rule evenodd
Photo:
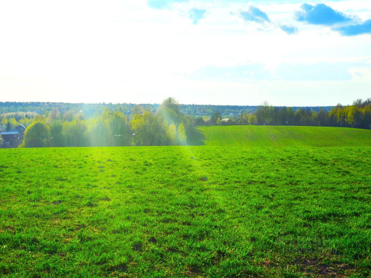
<svg viewBox="0 0 371 278"><path fill-rule="evenodd" d="M302 4L301 10L296 11L295 16L298 21L326 26L333 26L334 24L345 23L354 19L322 3L315 6L306 3Z"/></svg>

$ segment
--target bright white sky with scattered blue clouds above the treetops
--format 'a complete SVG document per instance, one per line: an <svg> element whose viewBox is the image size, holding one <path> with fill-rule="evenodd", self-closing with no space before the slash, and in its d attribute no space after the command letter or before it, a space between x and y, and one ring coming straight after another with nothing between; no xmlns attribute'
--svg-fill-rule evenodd
<svg viewBox="0 0 371 278"><path fill-rule="evenodd" d="M0 101L371 97L371 1L0 1Z"/></svg>

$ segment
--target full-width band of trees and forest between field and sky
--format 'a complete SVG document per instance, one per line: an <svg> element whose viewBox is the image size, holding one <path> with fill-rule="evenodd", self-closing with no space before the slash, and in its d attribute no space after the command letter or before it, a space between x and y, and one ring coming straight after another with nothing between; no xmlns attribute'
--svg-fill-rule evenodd
<svg viewBox="0 0 371 278"><path fill-rule="evenodd" d="M186 145L198 135L194 128L198 125L371 129L371 98L357 99L347 106L325 107L272 106L268 102L258 106L181 105L173 97L161 104L139 105L0 102L0 120L3 148ZM17 132L19 125L26 130L17 137L10 132Z"/></svg>

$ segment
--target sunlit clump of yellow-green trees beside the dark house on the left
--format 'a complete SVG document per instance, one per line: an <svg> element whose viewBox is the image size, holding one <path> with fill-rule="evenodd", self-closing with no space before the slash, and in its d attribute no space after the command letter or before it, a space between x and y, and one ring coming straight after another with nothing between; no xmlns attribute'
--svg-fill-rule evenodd
<svg viewBox="0 0 371 278"><path fill-rule="evenodd" d="M172 97L156 112L139 109L131 120L108 107L99 117L88 120L82 112L66 116L53 108L47 117L27 127L19 147L186 145L191 129L191 118L180 112Z"/></svg>

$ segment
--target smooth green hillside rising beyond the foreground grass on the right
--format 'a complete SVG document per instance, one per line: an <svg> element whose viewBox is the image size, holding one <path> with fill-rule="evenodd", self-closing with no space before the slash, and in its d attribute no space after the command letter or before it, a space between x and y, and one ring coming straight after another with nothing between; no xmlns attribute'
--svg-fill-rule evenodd
<svg viewBox="0 0 371 278"><path fill-rule="evenodd" d="M317 126L202 126L198 143L210 146L371 146L371 130Z"/></svg>

